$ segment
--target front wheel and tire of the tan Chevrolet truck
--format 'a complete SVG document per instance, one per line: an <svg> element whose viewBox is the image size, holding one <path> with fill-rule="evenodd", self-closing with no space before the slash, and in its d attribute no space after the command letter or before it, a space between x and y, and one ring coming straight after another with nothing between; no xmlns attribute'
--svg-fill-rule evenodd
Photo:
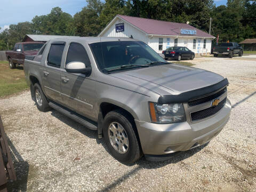
<svg viewBox="0 0 256 192"><path fill-rule="evenodd" d="M123 110L110 111L103 119L103 137L110 154L125 164L134 163L142 156L132 121Z"/></svg>

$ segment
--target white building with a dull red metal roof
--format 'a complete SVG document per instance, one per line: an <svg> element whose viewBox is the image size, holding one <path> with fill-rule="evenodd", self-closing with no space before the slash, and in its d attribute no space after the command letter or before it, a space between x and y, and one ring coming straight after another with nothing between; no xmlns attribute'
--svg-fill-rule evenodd
<svg viewBox="0 0 256 192"><path fill-rule="evenodd" d="M102 37L132 37L162 53L170 46L186 46L195 53L210 53L215 37L186 23L116 15L101 31Z"/></svg>

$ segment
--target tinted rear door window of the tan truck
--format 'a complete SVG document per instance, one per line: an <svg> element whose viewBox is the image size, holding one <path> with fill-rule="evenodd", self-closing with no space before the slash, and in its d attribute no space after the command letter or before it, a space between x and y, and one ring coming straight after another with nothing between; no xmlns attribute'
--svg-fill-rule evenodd
<svg viewBox="0 0 256 192"><path fill-rule="evenodd" d="M60 68L65 44L52 44L47 58L47 65Z"/></svg>

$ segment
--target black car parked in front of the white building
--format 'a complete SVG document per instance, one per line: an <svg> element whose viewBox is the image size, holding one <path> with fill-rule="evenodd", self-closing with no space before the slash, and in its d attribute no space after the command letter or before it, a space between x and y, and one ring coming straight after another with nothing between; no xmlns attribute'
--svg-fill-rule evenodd
<svg viewBox="0 0 256 192"><path fill-rule="evenodd" d="M181 59L191 59L195 58L195 53L190 51L187 47L168 47L165 51L162 52L165 59L176 59L180 61Z"/></svg>

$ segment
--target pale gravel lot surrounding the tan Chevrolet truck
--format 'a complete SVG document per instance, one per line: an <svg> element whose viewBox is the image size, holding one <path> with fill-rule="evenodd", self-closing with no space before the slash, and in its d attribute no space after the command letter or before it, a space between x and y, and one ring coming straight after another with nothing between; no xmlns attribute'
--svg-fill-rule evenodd
<svg viewBox="0 0 256 192"><path fill-rule="evenodd" d="M29 91L0 99L18 174L9 191L256 191L256 55L189 62L229 79L233 109L209 145L165 162L119 163L97 132L38 111Z"/></svg>

